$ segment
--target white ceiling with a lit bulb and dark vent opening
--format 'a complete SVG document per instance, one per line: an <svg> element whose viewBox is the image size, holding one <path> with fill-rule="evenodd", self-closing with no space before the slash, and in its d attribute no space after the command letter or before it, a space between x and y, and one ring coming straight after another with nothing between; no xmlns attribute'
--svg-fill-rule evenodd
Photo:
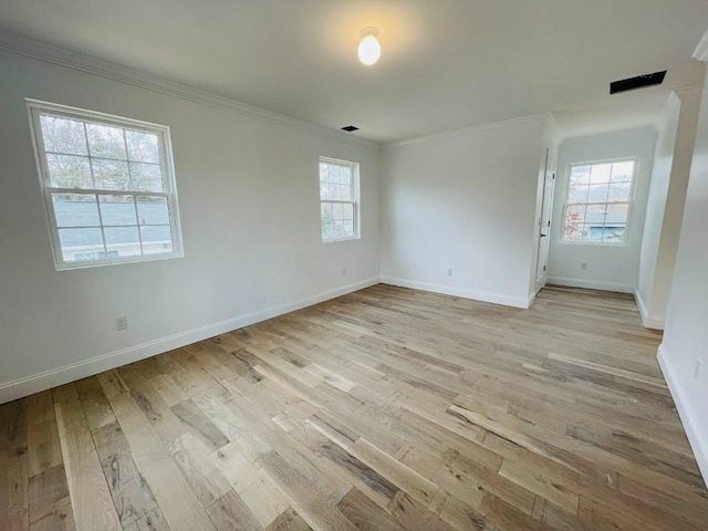
<svg viewBox="0 0 708 531"><path fill-rule="evenodd" d="M702 82L707 28L706 0L0 0L0 29L379 142L544 112L565 136L648 124Z"/></svg>

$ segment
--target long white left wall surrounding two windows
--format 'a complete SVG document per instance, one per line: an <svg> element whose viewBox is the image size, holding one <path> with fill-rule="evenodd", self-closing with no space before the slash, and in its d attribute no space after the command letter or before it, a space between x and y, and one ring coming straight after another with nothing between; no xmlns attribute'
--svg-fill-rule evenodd
<svg viewBox="0 0 708 531"><path fill-rule="evenodd" d="M378 282L376 145L7 52L0 73L0 403ZM185 258L54 271L25 97L171 127ZM321 242L321 155L361 164L358 241Z"/></svg>

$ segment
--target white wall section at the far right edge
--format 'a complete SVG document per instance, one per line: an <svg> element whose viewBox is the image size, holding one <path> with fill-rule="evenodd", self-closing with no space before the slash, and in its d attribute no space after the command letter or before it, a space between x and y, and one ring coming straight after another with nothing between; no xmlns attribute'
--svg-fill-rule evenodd
<svg viewBox="0 0 708 531"><path fill-rule="evenodd" d="M704 92L664 343L659 347L659 363L704 479L708 479L707 228L708 92ZM704 362L698 374L697 360Z"/></svg>

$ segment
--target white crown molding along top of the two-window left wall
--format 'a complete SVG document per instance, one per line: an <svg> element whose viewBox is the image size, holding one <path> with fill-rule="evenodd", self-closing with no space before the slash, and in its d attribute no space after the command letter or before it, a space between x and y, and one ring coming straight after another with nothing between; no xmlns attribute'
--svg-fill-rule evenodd
<svg viewBox="0 0 708 531"><path fill-rule="evenodd" d="M17 33L0 30L0 50L37 61L42 61L44 63L54 64L56 66L137 86L167 96L228 111L249 118L268 122L283 127L290 127L311 135L363 147L381 147L381 144L374 140L351 136L347 133L342 133L322 125L315 125L303 119L293 118L283 114L266 111L264 108L247 105L229 97L219 96L210 92L166 80L139 70L54 46Z"/></svg>

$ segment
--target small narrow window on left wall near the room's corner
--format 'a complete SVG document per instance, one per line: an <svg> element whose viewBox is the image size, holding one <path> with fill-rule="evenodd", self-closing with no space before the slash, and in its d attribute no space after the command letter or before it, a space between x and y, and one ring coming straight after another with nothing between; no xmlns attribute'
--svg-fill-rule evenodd
<svg viewBox="0 0 708 531"><path fill-rule="evenodd" d="M358 236L358 164L320 158L322 241Z"/></svg>

